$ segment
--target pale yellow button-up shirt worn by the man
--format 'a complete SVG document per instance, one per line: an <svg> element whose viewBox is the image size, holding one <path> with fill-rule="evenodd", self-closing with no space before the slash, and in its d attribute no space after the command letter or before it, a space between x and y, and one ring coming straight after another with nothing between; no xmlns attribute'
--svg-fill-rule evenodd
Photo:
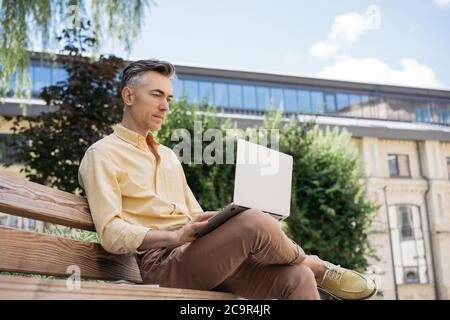
<svg viewBox="0 0 450 320"><path fill-rule="evenodd" d="M120 124L88 148L78 181L101 244L112 253L140 253L149 230L176 229L203 213L175 153Z"/></svg>

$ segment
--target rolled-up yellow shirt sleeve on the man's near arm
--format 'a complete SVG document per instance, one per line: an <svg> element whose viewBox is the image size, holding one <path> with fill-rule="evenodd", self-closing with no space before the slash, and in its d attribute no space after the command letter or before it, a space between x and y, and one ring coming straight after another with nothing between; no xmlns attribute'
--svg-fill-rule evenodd
<svg viewBox="0 0 450 320"><path fill-rule="evenodd" d="M121 218L122 195L117 171L101 150L90 148L81 161L78 181L86 192L92 220L103 248L111 253L141 253L150 228Z"/></svg>

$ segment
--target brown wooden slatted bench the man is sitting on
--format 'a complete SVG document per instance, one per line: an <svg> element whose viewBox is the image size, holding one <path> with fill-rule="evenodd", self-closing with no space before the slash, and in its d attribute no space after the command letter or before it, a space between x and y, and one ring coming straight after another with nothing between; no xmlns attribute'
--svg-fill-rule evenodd
<svg viewBox="0 0 450 320"><path fill-rule="evenodd" d="M0 212L95 231L85 198L25 179L0 174ZM81 281L67 285L70 266ZM0 271L65 279L0 275L0 299L238 299L230 293L142 284L133 255L114 255L99 244L0 226ZM119 281L120 282L120 281Z"/></svg>

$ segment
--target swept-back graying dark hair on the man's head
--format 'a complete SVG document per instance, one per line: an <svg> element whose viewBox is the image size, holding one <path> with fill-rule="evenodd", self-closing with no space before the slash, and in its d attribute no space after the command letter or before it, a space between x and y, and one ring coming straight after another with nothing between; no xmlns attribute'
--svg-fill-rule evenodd
<svg viewBox="0 0 450 320"><path fill-rule="evenodd" d="M169 79L175 76L175 67L170 62L156 59L134 61L122 72L120 90L122 91L124 87L136 86L141 76L147 71L156 71Z"/></svg>

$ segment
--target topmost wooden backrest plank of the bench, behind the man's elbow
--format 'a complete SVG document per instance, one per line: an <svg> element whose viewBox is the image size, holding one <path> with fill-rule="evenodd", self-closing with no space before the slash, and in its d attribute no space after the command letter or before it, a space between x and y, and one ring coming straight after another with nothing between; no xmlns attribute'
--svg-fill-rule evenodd
<svg viewBox="0 0 450 320"><path fill-rule="evenodd" d="M85 198L4 173L0 212L95 231Z"/></svg>

